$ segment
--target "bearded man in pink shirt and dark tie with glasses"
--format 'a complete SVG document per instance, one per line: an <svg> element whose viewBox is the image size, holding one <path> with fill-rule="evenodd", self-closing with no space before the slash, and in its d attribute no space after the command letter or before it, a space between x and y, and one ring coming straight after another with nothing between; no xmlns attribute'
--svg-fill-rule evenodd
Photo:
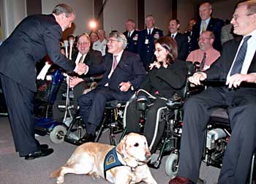
<svg viewBox="0 0 256 184"><path fill-rule="evenodd" d="M199 37L198 45L199 49L193 50L189 53L187 61L199 62L199 69L205 71L210 68L211 64L219 58L220 54L218 50L215 50L214 45L214 33L211 31L203 31Z"/></svg>

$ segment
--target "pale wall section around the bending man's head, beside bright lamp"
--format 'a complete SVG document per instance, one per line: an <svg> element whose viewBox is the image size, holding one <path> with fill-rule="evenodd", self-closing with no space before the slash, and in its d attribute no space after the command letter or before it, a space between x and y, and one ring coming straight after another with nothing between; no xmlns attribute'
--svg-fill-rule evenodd
<svg viewBox="0 0 256 184"><path fill-rule="evenodd" d="M93 0L42 0L42 13L50 14L53 8L60 3L66 3L71 6L76 12L75 22L72 28L64 31L63 38L67 38L69 34L90 33L89 20L94 18L93 15Z"/></svg>

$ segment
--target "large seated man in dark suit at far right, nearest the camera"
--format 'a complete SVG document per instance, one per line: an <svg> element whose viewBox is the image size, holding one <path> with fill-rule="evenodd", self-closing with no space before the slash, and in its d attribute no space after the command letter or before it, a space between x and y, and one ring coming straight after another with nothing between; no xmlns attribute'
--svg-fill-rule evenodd
<svg viewBox="0 0 256 184"><path fill-rule="evenodd" d="M232 133L227 142L219 184L245 184L256 148L256 1L236 7L231 23L234 33L243 36L226 42L222 55L206 72L197 72L189 81L225 80L224 87L208 87L190 97L184 105L184 126L178 177L173 183L196 183L202 158L206 127L214 107L227 106ZM254 88L243 86L254 85Z"/></svg>

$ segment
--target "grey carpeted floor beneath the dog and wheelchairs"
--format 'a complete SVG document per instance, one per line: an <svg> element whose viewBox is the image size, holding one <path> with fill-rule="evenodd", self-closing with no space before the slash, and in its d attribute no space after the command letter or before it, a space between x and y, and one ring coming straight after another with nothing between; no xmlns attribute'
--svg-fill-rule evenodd
<svg viewBox="0 0 256 184"><path fill-rule="evenodd" d="M66 163L69 156L75 150L75 145L67 142L54 144L50 142L48 135L37 137L41 144L48 144L54 149L54 153L45 158L37 158L31 161L25 161L15 153L10 124L8 118L0 118L0 184L53 184L55 179L49 177L50 172L58 169L59 166ZM99 142L108 143L108 132L102 135ZM165 161L167 156L162 159L159 169L151 169L151 173L159 184L167 184L170 178L165 174ZM201 178L206 180L207 184L217 183L219 169L213 167L201 166ZM103 179L93 180L86 175L65 175L67 184L84 183L108 183Z"/></svg>

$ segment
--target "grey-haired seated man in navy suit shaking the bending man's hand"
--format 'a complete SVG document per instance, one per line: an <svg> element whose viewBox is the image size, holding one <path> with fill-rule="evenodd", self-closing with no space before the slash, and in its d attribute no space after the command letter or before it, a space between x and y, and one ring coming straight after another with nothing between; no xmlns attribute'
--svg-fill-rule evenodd
<svg viewBox="0 0 256 184"><path fill-rule="evenodd" d="M105 103L110 100L128 101L146 76L146 71L135 53L124 51L127 39L113 32L108 39L108 53L99 66L87 66L85 74L102 74L97 88L78 99L80 115L86 124L86 134L81 142L93 142L94 134L102 120Z"/></svg>

